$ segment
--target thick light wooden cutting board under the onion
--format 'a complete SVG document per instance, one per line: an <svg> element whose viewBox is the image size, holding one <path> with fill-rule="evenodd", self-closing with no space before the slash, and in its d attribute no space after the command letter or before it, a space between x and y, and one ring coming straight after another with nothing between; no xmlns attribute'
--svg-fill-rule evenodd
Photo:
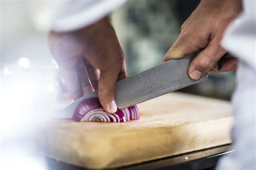
<svg viewBox="0 0 256 170"><path fill-rule="evenodd" d="M172 93L138 108L139 121L53 121L39 147L47 157L68 164L114 168L231 143L227 101Z"/></svg>

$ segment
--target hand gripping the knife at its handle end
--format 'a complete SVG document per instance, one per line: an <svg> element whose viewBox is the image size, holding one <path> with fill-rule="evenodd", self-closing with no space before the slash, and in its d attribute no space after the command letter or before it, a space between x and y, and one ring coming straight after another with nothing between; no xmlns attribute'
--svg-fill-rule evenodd
<svg viewBox="0 0 256 170"><path fill-rule="evenodd" d="M164 60L183 58L203 49L191 62L188 74L197 80L205 72L214 72L211 68L226 53L220 45L221 38L240 11L241 0L202 0L181 26L181 33ZM227 58L218 72L234 70L236 66L236 59Z"/></svg>

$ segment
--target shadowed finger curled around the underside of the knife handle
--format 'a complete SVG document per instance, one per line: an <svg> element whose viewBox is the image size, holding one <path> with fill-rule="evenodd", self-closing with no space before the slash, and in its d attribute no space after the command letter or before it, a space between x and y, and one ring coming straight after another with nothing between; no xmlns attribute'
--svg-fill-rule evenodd
<svg viewBox="0 0 256 170"><path fill-rule="evenodd" d="M230 72L237 69L237 64L238 64L237 58L225 58L221 69L219 69L218 71L211 69L209 70L209 72L212 72L212 73Z"/></svg>

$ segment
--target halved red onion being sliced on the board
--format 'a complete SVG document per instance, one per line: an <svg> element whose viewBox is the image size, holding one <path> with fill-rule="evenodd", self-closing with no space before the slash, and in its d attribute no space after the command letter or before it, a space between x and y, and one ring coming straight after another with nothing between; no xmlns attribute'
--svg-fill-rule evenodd
<svg viewBox="0 0 256 170"><path fill-rule="evenodd" d="M139 119L137 105L125 109L117 109L108 114L100 105L98 98L87 98L77 105L73 120L77 122L126 122Z"/></svg>

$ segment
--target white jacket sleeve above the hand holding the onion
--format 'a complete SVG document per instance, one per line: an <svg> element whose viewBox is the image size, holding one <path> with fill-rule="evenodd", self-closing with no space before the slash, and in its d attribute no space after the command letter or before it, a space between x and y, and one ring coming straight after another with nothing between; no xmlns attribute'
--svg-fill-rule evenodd
<svg viewBox="0 0 256 170"><path fill-rule="evenodd" d="M125 0L66 0L53 3L51 30L73 31L89 26L109 15Z"/></svg>

